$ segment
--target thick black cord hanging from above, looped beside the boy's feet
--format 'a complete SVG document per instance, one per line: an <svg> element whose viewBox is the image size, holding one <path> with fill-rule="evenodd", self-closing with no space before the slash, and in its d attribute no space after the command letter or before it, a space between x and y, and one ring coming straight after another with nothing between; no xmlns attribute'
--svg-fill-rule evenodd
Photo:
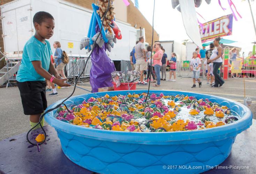
<svg viewBox="0 0 256 174"><path fill-rule="evenodd" d="M32 144L32 145L42 145L42 144L45 142L47 135L46 135L46 132L45 132L43 126L41 125L41 121L43 120L45 114L48 113L48 112L53 111L54 109L59 108L61 105L65 105L65 106L66 106L66 104L65 104L64 102L67 101L68 98L70 98L70 97L74 94L75 89L76 89L77 81L79 80L79 78L80 78L80 77L82 76L82 74L84 73L85 67L86 67L86 65L87 65L87 63L88 63L88 61L89 61L89 58L91 57L91 54L92 54L92 52L93 52L93 50L94 50L94 48L95 48L95 46L96 46L96 41L97 41L97 39L99 38L99 36L100 36L100 34L101 34L101 31L102 31L102 29L103 29L103 21L104 21L104 19L105 19L105 17L106 17L106 14L107 14L108 9L109 9L110 1L111 1L111 0L108 0L107 10L106 10L106 12L105 12L105 14L104 14L104 16L103 16L99 34L98 34L98 36L97 36L97 38L96 38L96 40L95 40L95 42L94 42L94 44L93 44L93 48L92 48L92 50L91 50L91 53L90 53L90 55L88 56L88 58L87 58L87 60L86 60L86 62L85 62L83 71L80 73L80 75L79 75L78 78L76 79L73 92L72 92L65 100L63 100L60 104L58 104L57 106L55 106L55 107L52 108L52 109L48 109L46 112L44 112L44 113L40 116L39 122L38 122L34 127L32 127L32 128L28 131L28 133L27 133L27 141L28 141L30 144ZM66 108L67 108L67 110L68 110L68 107L67 107L67 106L66 106ZM68 112L70 112L70 111L68 110ZM41 143L39 143L39 144L34 144L34 143L32 143L32 142L29 141L28 136L29 136L29 133L31 132L31 130L33 130L33 129L34 129L35 127L37 127L38 125L40 125L40 128L43 130L45 137L44 137L44 141L43 141L43 142L41 142Z"/></svg>

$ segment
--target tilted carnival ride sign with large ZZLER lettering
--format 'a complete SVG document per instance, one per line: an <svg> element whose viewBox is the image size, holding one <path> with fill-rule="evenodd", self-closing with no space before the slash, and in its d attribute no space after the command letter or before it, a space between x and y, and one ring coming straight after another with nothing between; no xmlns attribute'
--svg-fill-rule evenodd
<svg viewBox="0 0 256 174"><path fill-rule="evenodd" d="M219 17L212 21L199 25L200 35L202 42L211 40L217 37L232 35L233 15Z"/></svg>

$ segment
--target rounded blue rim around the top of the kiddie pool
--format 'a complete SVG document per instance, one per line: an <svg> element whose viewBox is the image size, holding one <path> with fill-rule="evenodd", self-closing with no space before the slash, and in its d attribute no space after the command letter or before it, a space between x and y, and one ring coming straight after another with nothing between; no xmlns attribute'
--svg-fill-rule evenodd
<svg viewBox="0 0 256 174"><path fill-rule="evenodd" d="M125 94L127 92L135 92L135 93L143 93L147 92L147 90L123 90L123 91L108 91L108 92L99 92L101 96L105 94L113 94L116 93ZM234 106L238 106L239 109L243 112L241 119L232 124L227 124L224 126L202 129L202 130L190 130L190 131L179 131L179 132L123 132L123 131L113 131L113 130L102 130L102 129L94 129L94 128L86 128L81 126L72 125L60 120L57 120L54 117L54 113L56 110L51 111L45 115L46 122L61 132L66 132L68 134L87 137L91 139L104 140L104 141L112 141L112 142L122 142L122 143L138 143L138 144L198 144L198 143L206 143L211 141L220 141L227 139L228 137L235 137L237 134L241 133L243 130L246 130L252 125L253 114L250 109L236 101L233 101L228 98L208 95L208 94L200 94L200 93L191 93L185 91L175 91L175 90L150 90L150 93L176 93L176 94L184 94L190 96L196 96L201 98L208 98L209 100L219 100L219 104L221 102L233 103ZM70 97L68 101L73 101L79 97L86 97L86 99L95 95L94 93L87 93L82 95L77 95ZM55 107L63 100L59 100L50 106L48 109ZM68 102L66 101L66 103ZM234 107L233 106L233 107ZM230 107L229 107L230 108ZM231 108L232 109L232 108ZM54 112L54 113L53 113ZM240 115L240 113L238 113ZM157 135L157 136L156 136Z"/></svg>

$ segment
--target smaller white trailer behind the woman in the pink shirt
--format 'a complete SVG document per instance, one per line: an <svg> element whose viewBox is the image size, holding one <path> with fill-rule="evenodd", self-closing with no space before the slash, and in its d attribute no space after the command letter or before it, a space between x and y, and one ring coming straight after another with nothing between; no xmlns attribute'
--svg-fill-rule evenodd
<svg viewBox="0 0 256 174"><path fill-rule="evenodd" d="M177 61L186 60L186 46L176 42L174 40L170 41L157 41L160 42L163 48L165 49L165 53L167 54L168 60L171 59L171 54L174 52L177 55Z"/></svg>

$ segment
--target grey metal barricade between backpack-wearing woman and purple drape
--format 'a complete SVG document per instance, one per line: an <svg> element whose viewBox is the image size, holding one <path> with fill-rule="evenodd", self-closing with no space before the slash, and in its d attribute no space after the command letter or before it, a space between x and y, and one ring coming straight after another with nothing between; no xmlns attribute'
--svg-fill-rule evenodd
<svg viewBox="0 0 256 174"><path fill-rule="evenodd" d="M65 66L65 73L67 78L73 78L75 80L76 77L80 75L85 66L85 62L87 57L69 57L69 62ZM80 78L90 77L91 70L91 59L89 59L85 71L83 72Z"/></svg>

